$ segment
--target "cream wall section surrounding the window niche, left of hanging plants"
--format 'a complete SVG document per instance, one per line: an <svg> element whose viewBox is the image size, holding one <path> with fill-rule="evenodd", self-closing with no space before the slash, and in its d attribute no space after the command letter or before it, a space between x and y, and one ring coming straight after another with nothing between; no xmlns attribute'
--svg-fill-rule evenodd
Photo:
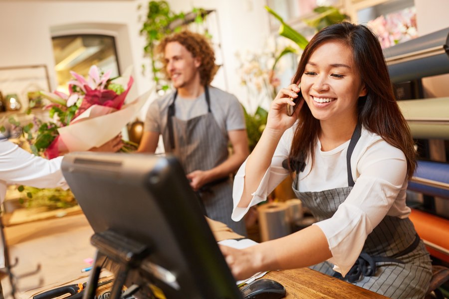
<svg viewBox="0 0 449 299"><path fill-rule="evenodd" d="M56 87L51 37L64 33L104 33L116 37L122 72L134 65L130 98L146 91L141 73L144 38L139 35L142 0L0 0L0 67L45 64Z"/></svg>

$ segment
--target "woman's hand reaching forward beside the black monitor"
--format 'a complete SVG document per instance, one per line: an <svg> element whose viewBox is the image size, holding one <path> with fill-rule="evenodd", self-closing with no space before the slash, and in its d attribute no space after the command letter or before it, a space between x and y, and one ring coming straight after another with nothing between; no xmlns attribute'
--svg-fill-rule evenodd
<svg viewBox="0 0 449 299"><path fill-rule="evenodd" d="M250 250L250 247L235 249L224 245L219 246L235 280L248 279L259 272L256 268L257 255Z"/></svg>

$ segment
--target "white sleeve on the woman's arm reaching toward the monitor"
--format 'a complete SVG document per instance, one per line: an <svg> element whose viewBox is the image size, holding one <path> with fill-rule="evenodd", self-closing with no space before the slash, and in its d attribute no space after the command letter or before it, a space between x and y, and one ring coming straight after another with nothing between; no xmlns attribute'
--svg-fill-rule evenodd
<svg viewBox="0 0 449 299"><path fill-rule="evenodd" d="M357 170L360 176L336 213L315 224L328 240L332 252L329 262L343 276L354 265L367 236L406 186L407 161L400 149L381 141L367 149L357 163Z"/></svg>

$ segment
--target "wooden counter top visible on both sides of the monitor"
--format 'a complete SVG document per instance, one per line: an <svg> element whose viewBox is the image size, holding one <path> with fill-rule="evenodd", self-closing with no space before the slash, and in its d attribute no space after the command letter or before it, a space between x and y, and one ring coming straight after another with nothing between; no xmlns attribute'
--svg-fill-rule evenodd
<svg viewBox="0 0 449 299"><path fill-rule="evenodd" d="M18 280L17 297L32 298L43 290L87 281L88 273L80 270L87 267L84 259L94 257L95 249L90 245L92 234L83 214L6 227L11 260L19 258L13 273L21 275L41 265L39 273ZM107 275L110 274L106 272L104 276ZM308 268L272 271L263 278L281 283L287 290L287 299L386 298ZM1 283L6 295L9 282L3 278Z"/></svg>

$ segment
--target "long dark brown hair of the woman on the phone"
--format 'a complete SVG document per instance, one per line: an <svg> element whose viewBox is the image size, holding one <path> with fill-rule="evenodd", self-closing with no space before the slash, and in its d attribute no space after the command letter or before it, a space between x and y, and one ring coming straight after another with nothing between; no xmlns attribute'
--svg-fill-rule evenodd
<svg viewBox="0 0 449 299"><path fill-rule="evenodd" d="M298 83L313 51L323 42L342 41L352 49L354 64L358 68L367 95L358 100L358 121L370 132L381 136L392 146L401 149L407 159L407 176L412 177L416 167L414 141L398 104L390 83L387 65L376 35L364 25L342 22L319 31L302 53L292 83ZM291 145L289 161L304 161L311 157L313 165L314 149L320 122L315 119L307 105L299 114L299 124ZM295 169L293 169L295 170Z"/></svg>

